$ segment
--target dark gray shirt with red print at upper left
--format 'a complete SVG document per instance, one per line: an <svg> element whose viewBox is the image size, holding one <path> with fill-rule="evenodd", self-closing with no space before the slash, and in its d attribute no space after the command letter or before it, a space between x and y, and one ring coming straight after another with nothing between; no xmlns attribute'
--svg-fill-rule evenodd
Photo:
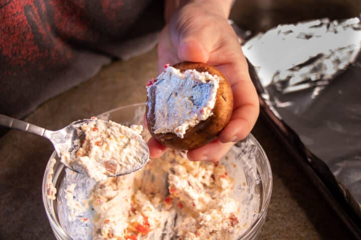
<svg viewBox="0 0 361 240"><path fill-rule="evenodd" d="M120 7L122 12L116 12L117 21L114 23L100 18L100 13L104 15L104 11L93 9L100 5L100 1L85 0L89 6L83 9L94 12L85 12L80 16L89 19L86 24L92 27L82 39L78 39L78 35L68 36L68 31L72 30L71 26L64 29L57 27L57 22L53 22L57 9L52 8L53 5L45 7L44 21L40 22L31 18L31 13L42 9L40 6L36 7L36 0L34 6L24 7L24 14L28 17L28 24L34 36L34 44L40 49L40 53L39 56L31 55L31 60L24 64L14 64L14 59L19 58L18 53L14 52L9 57L5 54L6 49L1 49L0 45L0 113L23 118L51 97L94 76L111 60L127 59L156 44L157 34L154 32L163 26L162 1L124 0ZM68 2L64 2L64 5L66 4ZM4 7L8 6L10 5ZM54 23L54 26L51 25L52 29L44 34L40 29L48 23ZM5 21L0 23L0 26L6 28L6 24L14 23ZM77 25L76 19L74 25ZM101 29L102 27L104 29ZM44 37L47 38L44 40ZM26 44L27 42L24 42L24 45ZM15 47L16 45L11 46L11 50ZM52 51L52 54L47 54L49 51ZM57 57L55 60L54 55Z"/></svg>

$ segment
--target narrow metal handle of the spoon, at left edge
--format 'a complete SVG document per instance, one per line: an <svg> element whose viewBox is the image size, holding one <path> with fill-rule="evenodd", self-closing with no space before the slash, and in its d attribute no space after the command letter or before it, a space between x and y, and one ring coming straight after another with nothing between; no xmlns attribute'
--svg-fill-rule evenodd
<svg viewBox="0 0 361 240"><path fill-rule="evenodd" d="M36 126L31 123L28 123L28 122L25 122L25 121L22 121L22 120L19 120L19 119L10 117L10 116L6 116L3 114L0 114L0 125L19 129L22 131L27 131L27 132L34 133L34 134L40 135L40 136L43 136L45 131L47 131L43 127Z"/></svg>

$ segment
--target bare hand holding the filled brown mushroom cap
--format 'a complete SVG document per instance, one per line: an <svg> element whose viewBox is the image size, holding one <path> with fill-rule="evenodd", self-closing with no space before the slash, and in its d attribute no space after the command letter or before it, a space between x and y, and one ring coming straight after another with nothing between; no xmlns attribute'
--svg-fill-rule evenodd
<svg viewBox="0 0 361 240"><path fill-rule="evenodd" d="M166 63L206 62L225 74L233 91L230 122L216 140L189 150L190 160L218 161L235 142L249 134L259 114L258 96L238 37L227 21L227 14L217 10L197 1L189 3L172 15L159 35L159 71ZM148 141L148 146L152 158L161 156L166 149L154 138Z"/></svg>

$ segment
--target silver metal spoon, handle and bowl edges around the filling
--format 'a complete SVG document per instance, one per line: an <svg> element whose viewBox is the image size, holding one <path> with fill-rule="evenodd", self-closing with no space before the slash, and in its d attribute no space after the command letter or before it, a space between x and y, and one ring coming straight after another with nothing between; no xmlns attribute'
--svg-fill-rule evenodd
<svg viewBox="0 0 361 240"><path fill-rule="evenodd" d="M55 151L57 152L59 157L63 153L69 152L70 157L73 159L75 159L76 152L81 146L81 140L85 136L84 132L81 130L80 127L84 123L88 123L90 121L94 121L94 120L93 119L83 119L83 120L73 121L72 123L70 123L69 125L67 125L66 127L62 128L60 130L51 131L51 130L47 130L43 127L40 127L40 126L33 125L31 123L0 114L0 125L1 126L15 128L15 129L27 131L27 132L30 132L30 133L33 133L33 134L36 134L39 136L44 136L53 143ZM139 143L140 143L139 148L142 149L142 153L143 153L141 156L139 156L139 157L141 157L141 161L139 161L140 164L133 166L131 171L121 172L117 175L125 175L125 174L131 173L133 171L136 171L136 170L140 169L141 167L143 167L144 164L148 161L149 148L142 138L139 137L137 139L139 139ZM67 166L68 168L72 169L73 171L83 173L83 171L81 169L74 169L69 164L65 164L64 162L62 162L62 163L65 166ZM107 176L115 176L115 175L110 175L110 173L107 173Z"/></svg>

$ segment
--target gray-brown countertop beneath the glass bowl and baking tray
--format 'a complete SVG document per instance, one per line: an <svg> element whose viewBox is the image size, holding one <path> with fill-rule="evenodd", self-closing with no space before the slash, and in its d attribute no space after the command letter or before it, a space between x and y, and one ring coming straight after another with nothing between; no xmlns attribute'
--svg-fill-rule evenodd
<svg viewBox="0 0 361 240"><path fill-rule="evenodd" d="M49 129L146 98L156 50L113 62L90 80L41 105L25 120ZM273 170L273 193L259 239L352 239L343 223L260 117L253 134ZM45 138L10 130L0 138L0 239L55 239L41 196L53 148Z"/></svg>

